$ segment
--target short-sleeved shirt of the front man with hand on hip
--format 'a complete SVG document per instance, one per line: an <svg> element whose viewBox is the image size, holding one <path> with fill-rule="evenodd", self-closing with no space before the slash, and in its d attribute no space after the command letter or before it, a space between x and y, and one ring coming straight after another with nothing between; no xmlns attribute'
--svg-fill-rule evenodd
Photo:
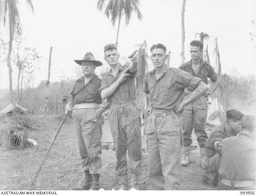
<svg viewBox="0 0 256 196"><path fill-rule="evenodd" d="M150 94L151 107L154 109L176 109L182 102L184 89L190 87L195 89L200 78L175 69L167 68L158 80L155 77L155 69L146 74L144 91Z"/></svg>

